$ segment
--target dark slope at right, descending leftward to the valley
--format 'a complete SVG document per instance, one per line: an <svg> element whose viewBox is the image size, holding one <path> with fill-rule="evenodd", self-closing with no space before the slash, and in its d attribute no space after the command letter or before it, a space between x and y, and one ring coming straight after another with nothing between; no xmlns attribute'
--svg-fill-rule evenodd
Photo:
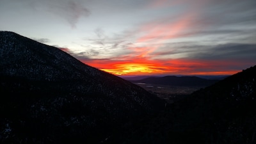
<svg viewBox="0 0 256 144"><path fill-rule="evenodd" d="M116 137L112 143L256 143L256 65Z"/></svg>

